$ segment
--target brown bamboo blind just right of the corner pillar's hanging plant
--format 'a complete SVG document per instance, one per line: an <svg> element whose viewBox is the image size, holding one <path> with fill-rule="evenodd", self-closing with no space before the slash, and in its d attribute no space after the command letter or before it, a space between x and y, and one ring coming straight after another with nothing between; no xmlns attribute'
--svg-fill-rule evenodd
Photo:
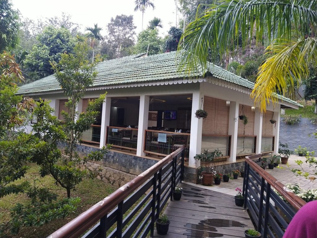
<svg viewBox="0 0 317 238"><path fill-rule="evenodd" d="M208 116L203 121L203 134L205 135L227 135L229 124L229 107L226 101L204 97L204 110Z"/></svg>

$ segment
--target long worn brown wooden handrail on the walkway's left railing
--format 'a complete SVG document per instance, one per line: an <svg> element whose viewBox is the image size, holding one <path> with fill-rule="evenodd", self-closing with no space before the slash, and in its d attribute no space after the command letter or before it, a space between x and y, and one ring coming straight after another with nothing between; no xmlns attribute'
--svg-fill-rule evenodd
<svg viewBox="0 0 317 238"><path fill-rule="evenodd" d="M66 225L52 233L48 238L75 238L85 233L91 226L100 220L101 217L109 213L113 208L123 201L126 197L133 193L155 173L162 169L166 164L171 162L173 158L181 154L184 146L167 155L164 159L154 164L151 168L135 177L130 182L117 189L115 192L96 203L94 206L81 213L81 215L68 222Z"/></svg>

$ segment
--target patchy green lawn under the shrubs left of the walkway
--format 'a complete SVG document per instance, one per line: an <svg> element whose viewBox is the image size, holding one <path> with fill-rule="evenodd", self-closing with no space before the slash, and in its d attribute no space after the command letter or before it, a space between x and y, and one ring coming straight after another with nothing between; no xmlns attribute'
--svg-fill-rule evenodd
<svg viewBox="0 0 317 238"><path fill-rule="evenodd" d="M35 178L39 178L39 181L36 182L37 185L40 185L42 183L44 186L52 188L52 191L57 193L59 197L67 197L66 190L61 187L55 186L53 178L49 176L40 178L38 174L39 168L36 164L30 164L29 166L30 169L28 170L24 178L16 181L15 183L20 183L25 180L28 180L32 183ZM81 184L77 185L76 191L71 191L71 197L81 197L81 202L77 207L77 210L73 214L68 215L66 219L52 221L42 227L23 227L18 235L9 235L9 237L45 238L82 212L86 211L92 205L105 198L107 195L113 193L116 189L116 187L98 179L85 179ZM26 203L29 202L29 199L26 197L25 194L8 195L0 199L0 223L2 223L3 221L8 221L10 219L10 208L13 208L18 202Z"/></svg>

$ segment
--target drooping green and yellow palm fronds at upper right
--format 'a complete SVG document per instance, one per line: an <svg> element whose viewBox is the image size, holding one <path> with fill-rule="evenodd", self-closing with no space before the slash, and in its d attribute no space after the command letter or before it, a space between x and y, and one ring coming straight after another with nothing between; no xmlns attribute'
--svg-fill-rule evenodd
<svg viewBox="0 0 317 238"><path fill-rule="evenodd" d="M266 41L270 55L251 94L264 112L267 103L277 102L276 93L294 89L309 75L308 65L317 63L317 1L222 0L205 6L179 41L179 50L186 49L179 70L205 73L207 59L235 52L239 38L243 49Z"/></svg>

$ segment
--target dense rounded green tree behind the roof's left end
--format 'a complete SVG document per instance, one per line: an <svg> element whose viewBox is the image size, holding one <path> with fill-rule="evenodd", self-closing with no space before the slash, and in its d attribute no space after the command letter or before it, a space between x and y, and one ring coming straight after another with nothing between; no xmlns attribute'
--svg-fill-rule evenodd
<svg viewBox="0 0 317 238"><path fill-rule="evenodd" d="M31 81L53 74L49 61L59 62L61 54L72 52L76 39L65 28L47 26L26 56L25 64Z"/></svg>

